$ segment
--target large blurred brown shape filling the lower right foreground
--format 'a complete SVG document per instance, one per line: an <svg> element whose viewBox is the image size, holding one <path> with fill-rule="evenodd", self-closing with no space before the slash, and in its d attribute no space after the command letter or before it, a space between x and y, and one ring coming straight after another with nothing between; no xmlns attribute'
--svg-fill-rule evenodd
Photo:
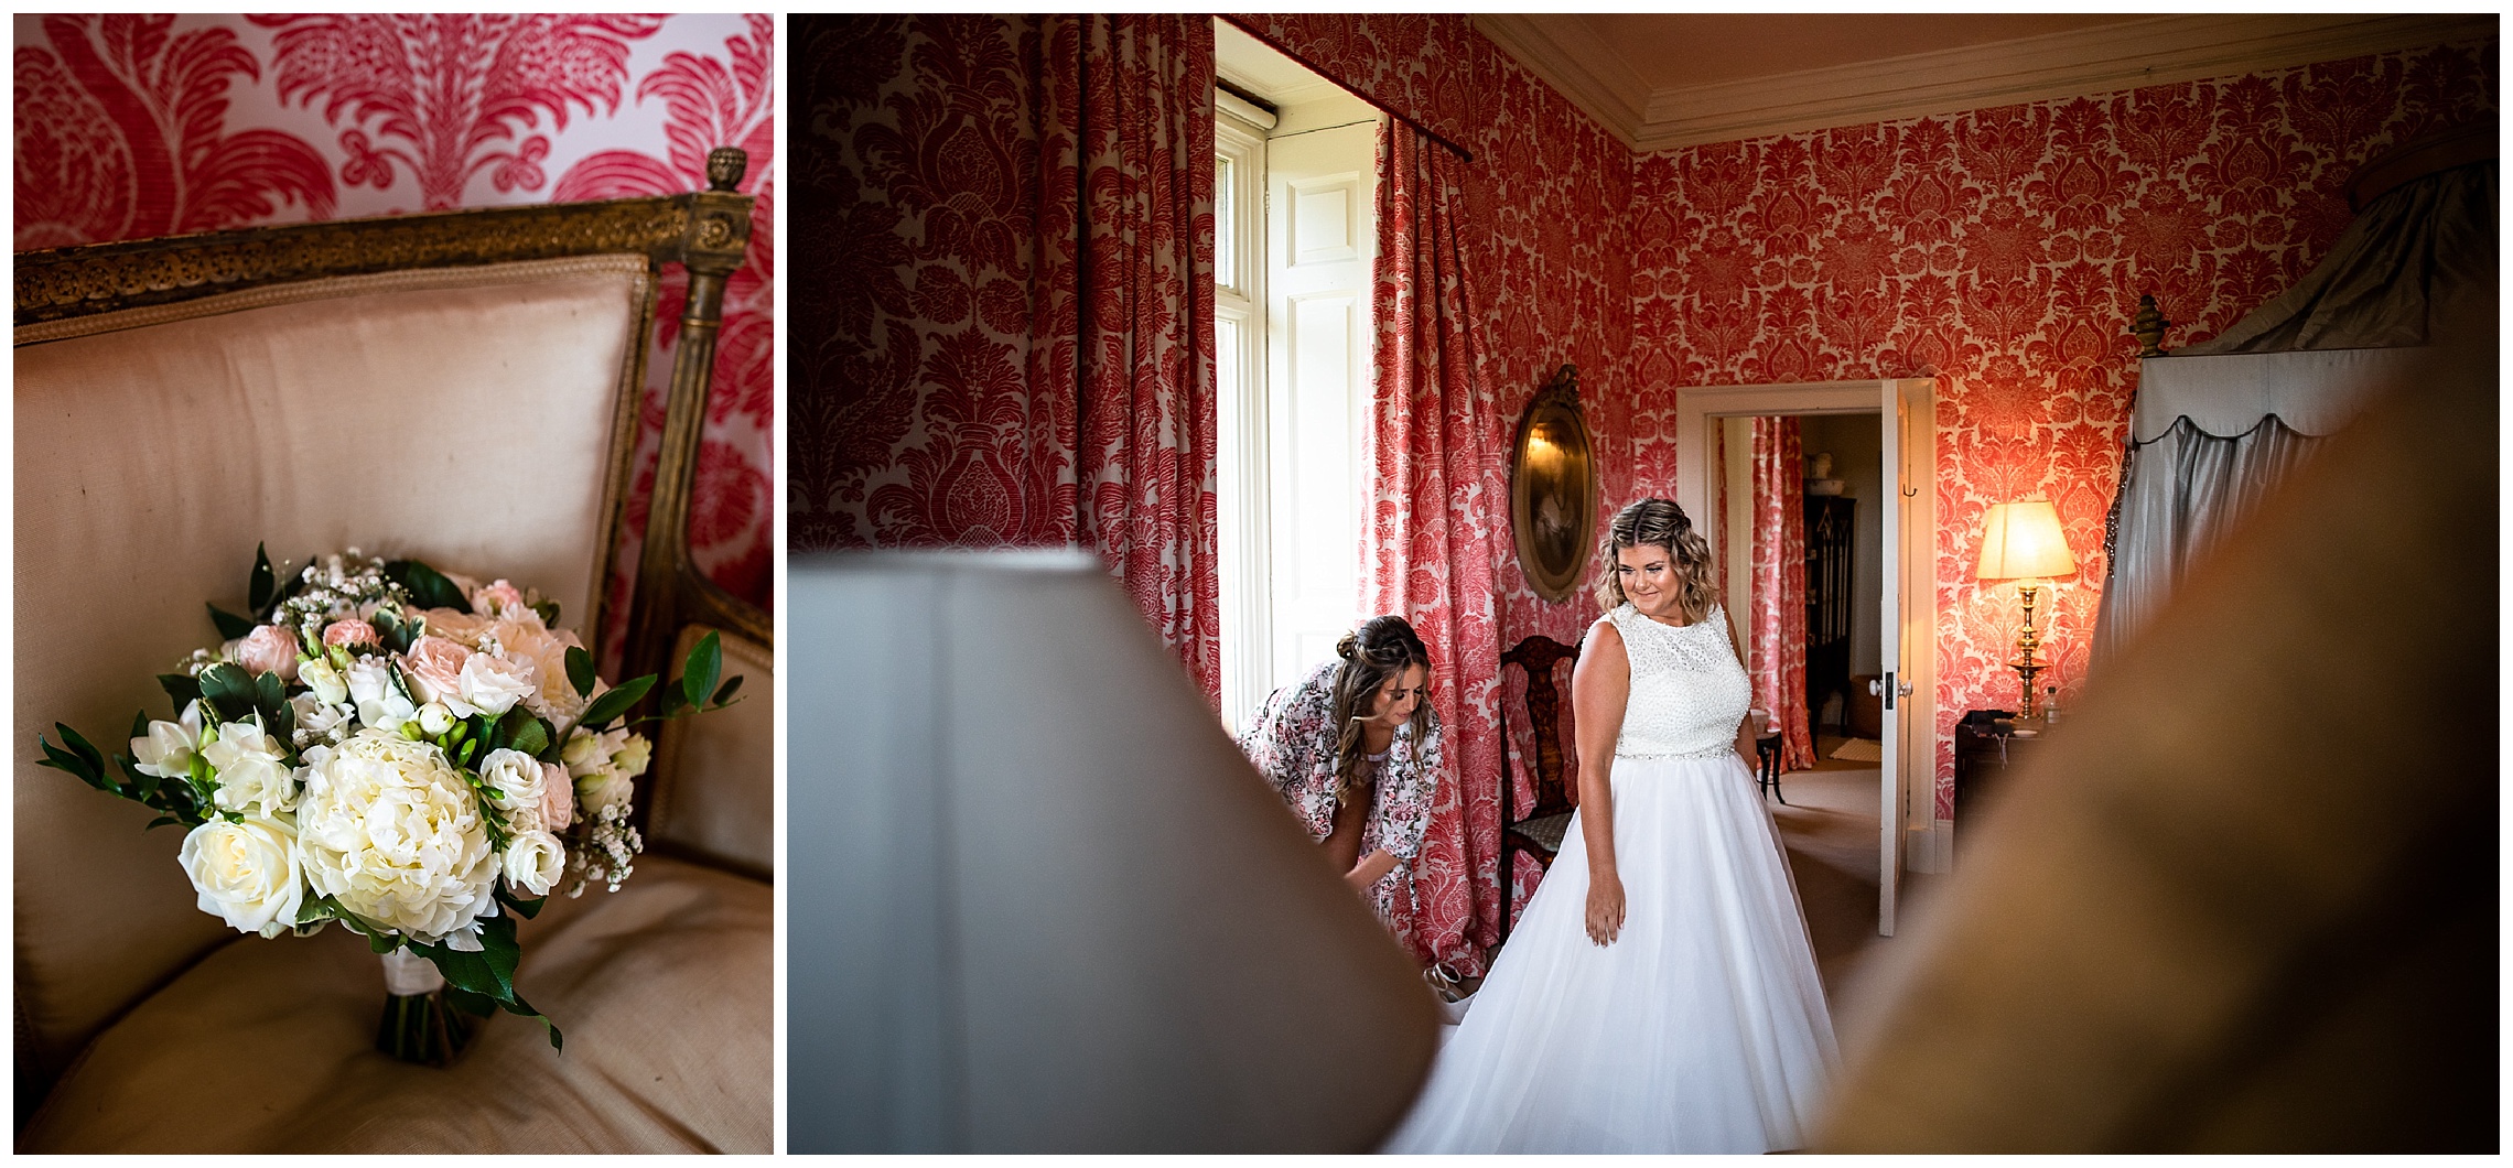
<svg viewBox="0 0 2513 1168"><path fill-rule="evenodd" d="M2498 404L2390 387L2096 676L1845 1017L1827 1150L2498 1145Z"/></svg>

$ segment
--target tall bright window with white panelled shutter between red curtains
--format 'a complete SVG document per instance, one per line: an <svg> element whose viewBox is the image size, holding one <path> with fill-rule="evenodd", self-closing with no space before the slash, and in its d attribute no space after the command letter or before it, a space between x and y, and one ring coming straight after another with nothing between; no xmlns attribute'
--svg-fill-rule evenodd
<svg viewBox="0 0 2513 1168"><path fill-rule="evenodd" d="M1339 90L1214 133L1221 716L1246 726L1360 618L1377 113Z"/></svg>

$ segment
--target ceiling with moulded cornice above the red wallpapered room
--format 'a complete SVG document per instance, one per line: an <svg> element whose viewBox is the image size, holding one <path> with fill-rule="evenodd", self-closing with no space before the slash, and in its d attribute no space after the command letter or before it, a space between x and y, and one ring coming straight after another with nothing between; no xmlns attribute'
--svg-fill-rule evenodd
<svg viewBox="0 0 2513 1168"><path fill-rule="evenodd" d="M2490 38L2483 15L1543 13L1475 28L1636 151Z"/></svg>

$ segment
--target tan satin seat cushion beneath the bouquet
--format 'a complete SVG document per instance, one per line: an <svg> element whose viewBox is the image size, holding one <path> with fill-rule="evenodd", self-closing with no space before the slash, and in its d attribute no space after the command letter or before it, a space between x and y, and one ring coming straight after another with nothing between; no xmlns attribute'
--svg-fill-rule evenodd
<svg viewBox="0 0 2513 1168"><path fill-rule="evenodd" d="M374 1052L382 965L347 929L239 939L80 1052L18 1150L769 1153L766 884L641 857L523 924L523 995L452 1068Z"/></svg>

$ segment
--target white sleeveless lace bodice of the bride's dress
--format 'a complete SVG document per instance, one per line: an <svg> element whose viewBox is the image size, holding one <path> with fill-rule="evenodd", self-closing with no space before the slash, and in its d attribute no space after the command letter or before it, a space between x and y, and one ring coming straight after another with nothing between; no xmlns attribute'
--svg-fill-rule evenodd
<svg viewBox="0 0 2513 1168"><path fill-rule="evenodd" d="M1606 613L1631 658L1631 701L1616 759L1711 759L1736 749L1749 686L1729 648L1726 613L1661 625L1628 603Z"/></svg>

